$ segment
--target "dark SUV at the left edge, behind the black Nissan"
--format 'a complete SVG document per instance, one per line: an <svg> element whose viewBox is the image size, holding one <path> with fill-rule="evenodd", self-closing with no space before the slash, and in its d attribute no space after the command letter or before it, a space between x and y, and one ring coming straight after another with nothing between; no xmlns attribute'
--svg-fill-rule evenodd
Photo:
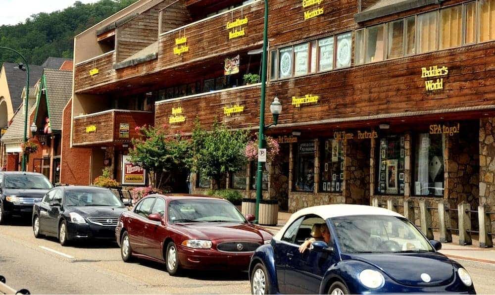
<svg viewBox="0 0 495 295"><path fill-rule="evenodd" d="M34 203L51 188L48 178L40 173L0 172L0 224L12 216L31 220Z"/></svg>

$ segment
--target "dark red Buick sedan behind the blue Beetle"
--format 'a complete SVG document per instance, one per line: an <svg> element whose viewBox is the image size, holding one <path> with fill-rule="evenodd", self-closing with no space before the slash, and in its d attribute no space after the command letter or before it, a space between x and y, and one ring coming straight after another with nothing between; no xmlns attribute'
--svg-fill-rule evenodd
<svg viewBox="0 0 495 295"><path fill-rule="evenodd" d="M272 234L255 226L229 201L189 195L152 195L120 215L115 237L122 260L163 262L181 269L247 270L254 250Z"/></svg>

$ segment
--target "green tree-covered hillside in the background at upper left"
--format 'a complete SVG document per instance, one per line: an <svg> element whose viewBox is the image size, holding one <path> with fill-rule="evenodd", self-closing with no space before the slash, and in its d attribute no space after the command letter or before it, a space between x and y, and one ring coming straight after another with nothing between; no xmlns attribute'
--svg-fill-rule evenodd
<svg viewBox="0 0 495 295"><path fill-rule="evenodd" d="M137 0L100 0L51 13L31 15L24 23L0 26L0 46L16 49L30 64L41 65L49 56L72 58L74 36ZM20 62L14 52L0 50L0 62Z"/></svg>

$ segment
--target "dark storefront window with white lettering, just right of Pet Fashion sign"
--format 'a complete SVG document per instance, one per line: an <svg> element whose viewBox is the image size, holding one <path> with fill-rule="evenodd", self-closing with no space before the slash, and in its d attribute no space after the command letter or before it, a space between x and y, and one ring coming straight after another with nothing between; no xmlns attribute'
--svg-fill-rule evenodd
<svg viewBox="0 0 495 295"><path fill-rule="evenodd" d="M297 191L314 190L314 142L297 145L295 189Z"/></svg>

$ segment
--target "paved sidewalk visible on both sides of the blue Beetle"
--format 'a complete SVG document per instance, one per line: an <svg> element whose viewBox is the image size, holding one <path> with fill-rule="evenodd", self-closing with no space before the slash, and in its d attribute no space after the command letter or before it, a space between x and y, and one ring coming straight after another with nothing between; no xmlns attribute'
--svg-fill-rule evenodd
<svg viewBox="0 0 495 295"><path fill-rule="evenodd" d="M264 228L276 234L287 223L292 213L279 212L278 223L276 226L263 226ZM435 239L439 239L439 233L434 233ZM460 246L457 235L452 235L452 243L443 243L441 253L454 260L468 260L474 262L491 263L495 265L495 248L480 248L479 242L473 236L473 245Z"/></svg>

